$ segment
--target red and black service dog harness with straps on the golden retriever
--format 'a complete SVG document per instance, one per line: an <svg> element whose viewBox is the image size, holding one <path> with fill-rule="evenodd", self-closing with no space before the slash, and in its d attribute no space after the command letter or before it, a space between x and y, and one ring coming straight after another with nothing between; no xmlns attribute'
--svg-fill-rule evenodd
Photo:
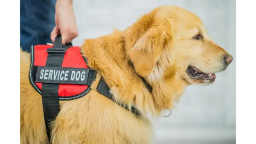
<svg viewBox="0 0 256 144"><path fill-rule="evenodd" d="M131 66L133 66L132 63ZM59 100L73 100L86 95L91 89L96 73L87 66L87 59L82 56L80 48L72 46L71 43L62 45L60 35L55 38L53 46L31 46L29 81L42 95L44 121L49 141L50 122L55 120L60 111ZM151 92L152 87L144 78L142 80ZM110 88L103 78L99 81L96 90L114 101ZM122 107L128 109L128 107ZM137 116L141 115L135 107L131 107L131 112Z"/></svg>

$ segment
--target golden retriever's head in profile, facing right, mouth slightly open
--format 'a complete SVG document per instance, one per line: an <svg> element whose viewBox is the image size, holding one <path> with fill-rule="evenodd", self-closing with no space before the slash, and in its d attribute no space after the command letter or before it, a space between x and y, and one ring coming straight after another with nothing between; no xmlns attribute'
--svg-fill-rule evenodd
<svg viewBox="0 0 256 144"><path fill-rule="evenodd" d="M207 34L195 14L162 6L125 30L126 50L136 72L153 86L155 103L172 107L189 84L211 84L233 57Z"/></svg>

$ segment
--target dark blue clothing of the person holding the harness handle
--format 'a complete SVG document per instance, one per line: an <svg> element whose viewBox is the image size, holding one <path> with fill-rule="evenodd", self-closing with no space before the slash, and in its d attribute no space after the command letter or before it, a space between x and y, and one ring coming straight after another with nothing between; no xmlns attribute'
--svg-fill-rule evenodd
<svg viewBox="0 0 256 144"><path fill-rule="evenodd" d="M31 45L52 43L56 0L20 0L20 46L30 52Z"/></svg>

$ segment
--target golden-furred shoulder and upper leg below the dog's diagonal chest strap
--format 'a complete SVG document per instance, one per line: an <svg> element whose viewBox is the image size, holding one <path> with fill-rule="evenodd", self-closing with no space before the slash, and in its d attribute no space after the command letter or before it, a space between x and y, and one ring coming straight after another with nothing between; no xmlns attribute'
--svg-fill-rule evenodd
<svg viewBox="0 0 256 144"><path fill-rule="evenodd" d="M91 90L61 101L52 130L54 144L148 144L151 124Z"/></svg>

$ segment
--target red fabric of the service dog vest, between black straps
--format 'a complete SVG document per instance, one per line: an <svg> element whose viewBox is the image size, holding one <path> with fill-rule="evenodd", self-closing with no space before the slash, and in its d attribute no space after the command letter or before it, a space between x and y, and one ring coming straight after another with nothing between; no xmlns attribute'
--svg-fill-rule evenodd
<svg viewBox="0 0 256 144"><path fill-rule="evenodd" d="M42 83L35 82L35 69L37 66L45 66L47 61L47 49L52 48L49 45L32 46L31 50L31 67L30 67L30 82L32 86L41 93ZM62 67L69 68L86 68L88 69L86 59L81 55L80 48L73 46L67 49ZM84 96L89 92L90 87L79 84L59 84L58 96L59 100L70 100Z"/></svg>

